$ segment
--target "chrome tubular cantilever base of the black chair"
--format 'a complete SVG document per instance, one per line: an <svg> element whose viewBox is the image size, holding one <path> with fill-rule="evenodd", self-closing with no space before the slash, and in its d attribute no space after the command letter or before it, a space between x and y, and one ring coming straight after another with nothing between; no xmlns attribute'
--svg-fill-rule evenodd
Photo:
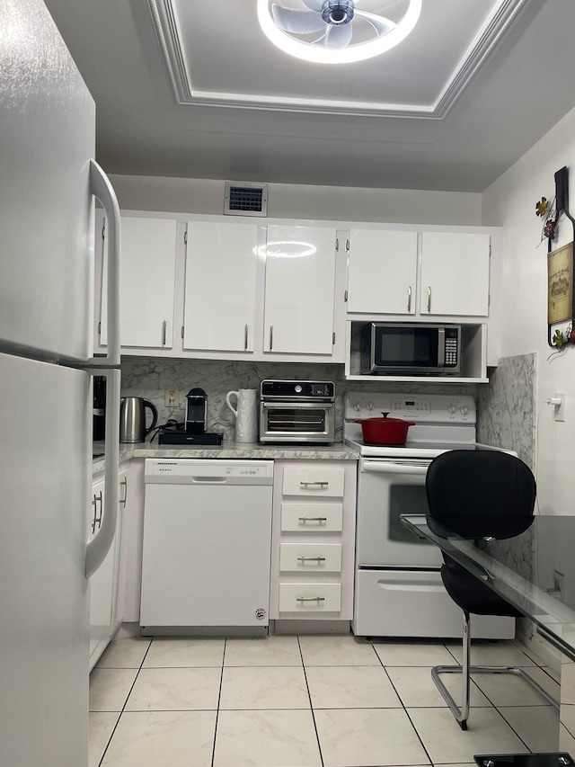
<svg viewBox="0 0 575 767"><path fill-rule="evenodd" d="M470 617L469 613L464 613L464 656L463 663L461 665L436 665L431 669L431 678L436 684L438 691L446 701L447 706L451 709L459 727L462 730L467 729L467 719L469 718L469 694L471 686L471 674L472 673L514 673L516 676L524 679L544 700L546 700L554 709L559 709L559 703L554 700L548 692L544 691L543 687L535 682L529 674L525 673L523 669L516 666L499 666L499 665L470 665L469 660L471 656L471 632L470 632ZM462 674L462 703L461 706L456 704L451 693L447 690L445 684L439 678L440 673L461 673Z"/></svg>

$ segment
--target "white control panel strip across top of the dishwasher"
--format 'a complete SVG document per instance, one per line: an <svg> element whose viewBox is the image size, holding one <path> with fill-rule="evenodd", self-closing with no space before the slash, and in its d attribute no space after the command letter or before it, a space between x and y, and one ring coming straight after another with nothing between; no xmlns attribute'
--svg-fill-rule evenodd
<svg viewBox="0 0 575 767"><path fill-rule="evenodd" d="M146 484L271 485L272 460L146 459Z"/></svg>

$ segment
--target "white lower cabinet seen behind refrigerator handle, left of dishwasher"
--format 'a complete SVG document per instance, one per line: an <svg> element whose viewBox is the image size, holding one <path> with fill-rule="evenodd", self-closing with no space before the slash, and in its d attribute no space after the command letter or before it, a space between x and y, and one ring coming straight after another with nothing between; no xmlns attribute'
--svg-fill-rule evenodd
<svg viewBox="0 0 575 767"><path fill-rule="evenodd" d="M116 535L102 565L89 582L90 591L90 671L122 621L119 612L119 548L121 537L121 510L128 494L126 469L119 473L119 513ZM102 527L104 514L104 480L93 483L90 513L90 536L94 538Z"/></svg>

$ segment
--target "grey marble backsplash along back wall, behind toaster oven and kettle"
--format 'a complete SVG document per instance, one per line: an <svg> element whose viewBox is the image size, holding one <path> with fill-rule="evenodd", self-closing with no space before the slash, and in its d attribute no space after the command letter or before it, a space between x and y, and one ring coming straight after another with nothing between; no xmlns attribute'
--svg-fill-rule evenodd
<svg viewBox="0 0 575 767"><path fill-rule="evenodd" d="M234 415L226 406L228 391L238 388L259 390L263 379L325 380L335 383L336 440L341 440L343 397L348 391L397 391L413 394L468 394L476 397L474 384L398 383L396 381L348 381L343 365L305 364L302 362L249 362L214 360L166 360L149 357L124 357L121 364L122 397L145 397L158 409L158 424L168 418L184 419L186 394L192 387L208 394L208 431L224 433L225 440L234 439ZM164 405L166 387L180 389L180 406Z"/></svg>

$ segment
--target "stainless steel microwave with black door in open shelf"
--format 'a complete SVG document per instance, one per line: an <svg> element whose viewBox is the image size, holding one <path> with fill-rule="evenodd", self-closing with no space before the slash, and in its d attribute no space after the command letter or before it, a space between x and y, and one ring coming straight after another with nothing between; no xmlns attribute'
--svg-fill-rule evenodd
<svg viewBox="0 0 575 767"><path fill-rule="evenodd" d="M461 326L368 323L359 364L364 375L460 375Z"/></svg>

